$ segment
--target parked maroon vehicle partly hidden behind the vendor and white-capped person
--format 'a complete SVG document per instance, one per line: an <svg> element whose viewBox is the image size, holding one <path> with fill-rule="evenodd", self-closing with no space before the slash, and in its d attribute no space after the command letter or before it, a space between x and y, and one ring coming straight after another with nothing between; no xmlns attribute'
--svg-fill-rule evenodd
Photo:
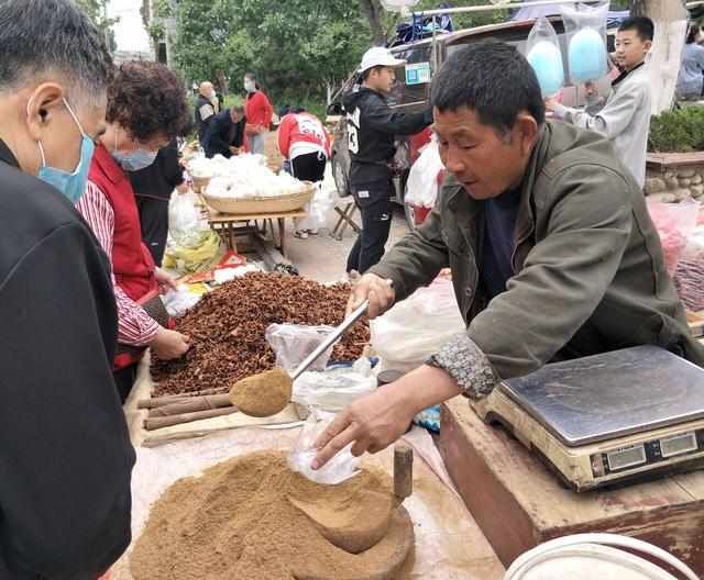
<svg viewBox="0 0 704 580"><path fill-rule="evenodd" d="M565 79L569 79L569 70L566 70L566 35L564 26L559 16L549 19L556 29L558 38L561 44L563 62L565 66ZM452 33L439 34L435 38L424 38L410 44L394 46L391 48L396 58L406 60L406 65L398 67L396 71L396 85L389 97L389 104L394 109L407 112L424 111L429 107L429 82L406 82L406 71L409 65L424 67L430 66L431 74L437 70L447 58L459 51L461 47L483 40L496 40L506 42L518 47L521 53L526 53L526 42L528 34L532 29L535 21L505 22L502 24L491 24L486 26L477 26L474 29L461 30ZM610 36L610 35L609 35ZM609 46L613 45L613 38L609 37ZM612 48L613 49L613 48ZM414 68L414 67L411 67ZM348 124L345 119L344 107L342 105L342 96L352 90L355 83L360 81L359 75L352 74L342 88L333 96L331 104L328 107L328 122L334 123L334 143L332 146L331 163L332 174L334 177L338 192L341 197L350 194L350 154L348 150ZM600 80L600 92L606 94L609 90L608 78ZM584 103L583 88L568 86L562 91L562 102L566 105L581 105ZM415 227L422 223L429 210L422 208L414 208L404 203L406 196L406 182L411 165L418 158L420 149L429 143L431 130L426 129L422 133L411 137L399 137L396 142L396 161L403 171L399 177L394 179L396 196L395 201L404 205L406 220L409 226ZM442 179L439 176L438 179Z"/></svg>

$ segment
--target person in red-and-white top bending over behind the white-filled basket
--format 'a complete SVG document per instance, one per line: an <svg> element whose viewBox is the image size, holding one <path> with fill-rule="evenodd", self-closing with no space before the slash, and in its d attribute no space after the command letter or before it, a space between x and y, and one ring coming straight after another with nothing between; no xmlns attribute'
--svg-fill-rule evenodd
<svg viewBox="0 0 704 580"><path fill-rule="evenodd" d="M322 181L330 158L330 134L316 115L302 108L284 115L278 125L277 144L282 157L288 161L290 175L301 181ZM308 234L318 233L315 219L295 217L294 222L296 237L306 239Z"/></svg>

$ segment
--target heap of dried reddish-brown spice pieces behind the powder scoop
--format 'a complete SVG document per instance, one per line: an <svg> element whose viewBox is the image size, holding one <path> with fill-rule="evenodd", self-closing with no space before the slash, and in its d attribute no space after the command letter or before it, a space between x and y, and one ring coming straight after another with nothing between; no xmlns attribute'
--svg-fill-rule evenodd
<svg viewBox="0 0 704 580"><path fill-rule="evenodd" d="M177 321L191 347L178 360L153 359L155 395L227 392L234 381L274 368L264 338L273 323L330 326L344 319L348 285L323 286L297 276L249 274L207 294ZM360 320L333 350L331 360L354 360L369 343L369 321Z"/></svg>

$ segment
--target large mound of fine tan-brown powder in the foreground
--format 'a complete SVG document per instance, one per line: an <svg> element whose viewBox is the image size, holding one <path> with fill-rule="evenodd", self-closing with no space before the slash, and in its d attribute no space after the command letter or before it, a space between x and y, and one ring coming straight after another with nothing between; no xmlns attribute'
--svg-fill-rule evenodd
<svg viewBox="0 0 704 580"><path fill-rule="evenodd" d="M134 580L382 578L378 570L398 554L391 531L367 551L348 554L288 498L334 505L391 489L387 476L369 470L339 486L312 483L290 471L280 451L234 458L177 481L154 504L131 571Z"/></svg>

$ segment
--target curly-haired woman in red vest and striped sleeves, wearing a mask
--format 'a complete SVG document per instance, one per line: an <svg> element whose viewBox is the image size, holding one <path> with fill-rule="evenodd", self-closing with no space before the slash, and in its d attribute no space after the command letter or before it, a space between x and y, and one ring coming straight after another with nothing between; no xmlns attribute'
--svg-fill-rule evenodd
<svg viewBox="0 0 704 580"><path fill-rule="evenodd" d="M143 60L120 66L108 90L107 129L99 137L85 194L76 208L112 261L118 303L113 373L124 401L147 347L161 359L188 350L188 337L168 328L160 298L173 279L142 243L129 174L154 163L188 119L183 82L165 66Z"/></svg>

